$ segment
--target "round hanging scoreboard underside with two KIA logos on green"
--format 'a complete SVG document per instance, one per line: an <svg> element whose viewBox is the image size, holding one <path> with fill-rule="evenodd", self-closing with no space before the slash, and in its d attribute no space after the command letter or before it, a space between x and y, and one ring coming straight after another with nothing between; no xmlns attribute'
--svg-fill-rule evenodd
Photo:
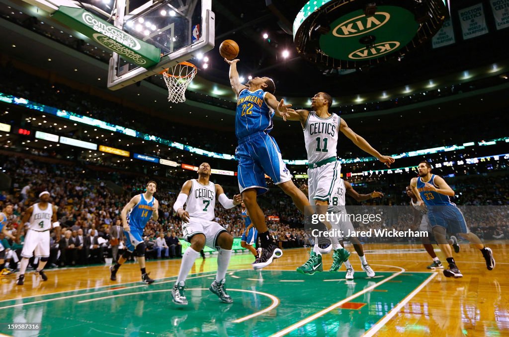
<svg viewBox="0 0 509 337"><path fill-rule="evenodd" d="M417 49L440 29L443 0L309 0L293 24L295 48L320 69L364 69Z"/></svg>

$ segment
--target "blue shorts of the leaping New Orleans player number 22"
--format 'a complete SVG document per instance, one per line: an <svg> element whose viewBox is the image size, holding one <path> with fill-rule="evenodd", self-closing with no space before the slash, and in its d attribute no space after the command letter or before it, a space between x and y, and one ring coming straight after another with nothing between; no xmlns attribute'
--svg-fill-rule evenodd
<svg viewBox="0 0 509 337"><path fill-rule="evenodd" d="M238 166L239 190L256 188L257 193L268 191L267 174L276 185L292 179L281 157L281 151L273 137L264 132L247 136L239 141L235 151Z"/></svg>

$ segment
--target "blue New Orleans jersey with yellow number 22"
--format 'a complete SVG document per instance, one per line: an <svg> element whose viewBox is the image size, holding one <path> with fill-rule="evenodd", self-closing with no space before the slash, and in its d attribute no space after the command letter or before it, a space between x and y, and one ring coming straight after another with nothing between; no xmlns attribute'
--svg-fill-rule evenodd
<svg viewBox="0 0 509 337"><path fill-rule="evenodd" d="M240 92L235 111L235 135L238 140L259 132L268 134L272 130L274 112L265 103L264 97L262 89L254 92L244 89Z"/></svg>

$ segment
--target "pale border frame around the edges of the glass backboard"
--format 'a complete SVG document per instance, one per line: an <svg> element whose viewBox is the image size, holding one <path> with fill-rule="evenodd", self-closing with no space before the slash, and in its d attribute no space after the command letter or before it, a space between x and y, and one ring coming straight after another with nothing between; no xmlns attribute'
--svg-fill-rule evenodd
<svg viewBox="0 0 509 337"><path fill-rule="evenodd" d="M202 34L197 42L163 56L161 61L150 69L138 67L121 76L118 76L118 67L121 62L120 55L115 52L112 53L108 66L108 88L110 90L117 90L147 77L159 75L166 68L171 68L180 62L186 61L198 53L205 53L213 49L215 42L215 18L212 12L212 0L198 1L202 2ZM117 15L114 22L116 27L122 29L127 17L125 14L125 0L117 0L117 4ZM145 11L149 9L155 10L164 5L164 2L156 3L147 7ZM143 15L145 11L138 12L136 15ZM132 15L130 17L132 18Z"/></svg>

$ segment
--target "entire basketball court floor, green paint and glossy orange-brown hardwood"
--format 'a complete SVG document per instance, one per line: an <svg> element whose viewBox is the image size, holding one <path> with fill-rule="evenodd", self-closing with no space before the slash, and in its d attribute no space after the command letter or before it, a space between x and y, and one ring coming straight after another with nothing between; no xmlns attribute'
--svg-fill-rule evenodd
<svg viewBox="0 0 509 337"><path fill-rule="evenodd" d="M270 267L253 271L247 254L234 255L227 288L233 304L220 303L208 287L216 258L196 261L187 282L188 307L177 307L169 289L180 260L147 264L156 283L141 284L137 265L123 266L118 281L107 266L49 270L41 282L27 273L0 283L0 333L31 336L509 336L509 254L489 244L497 265L488 271L468 244L455 255L464 274L447 279L426 269L430 258L419 245L365 245L377 272L366 278L357 255L353 282L339 272L308 276L295 272L305 249L285 250ZM350 251L353 252L351 247ZM440 257L440 253L438 256ZM324 256L328 270L331 256ZM42 330L9 331L5 323L41 322Z"/></svg>

